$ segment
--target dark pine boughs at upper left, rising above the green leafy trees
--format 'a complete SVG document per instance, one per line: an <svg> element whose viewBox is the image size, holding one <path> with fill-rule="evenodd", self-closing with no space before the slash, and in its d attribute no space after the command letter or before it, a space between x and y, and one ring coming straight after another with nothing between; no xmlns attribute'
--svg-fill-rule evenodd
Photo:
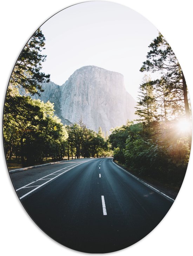
<svg viewBox="0 0 193 256"><path fill-rule="evenodd" d="M15 63L9 86L24 88L31 95L39 94L38 90L43 91L39 83L48 82L50 76L40 71L41 62L46 59L46 55L41 54L41 51L45 49L44 46L45 37L41 29L38 29L29 39ZM9 94L9 87L7 93Z"/></svg>

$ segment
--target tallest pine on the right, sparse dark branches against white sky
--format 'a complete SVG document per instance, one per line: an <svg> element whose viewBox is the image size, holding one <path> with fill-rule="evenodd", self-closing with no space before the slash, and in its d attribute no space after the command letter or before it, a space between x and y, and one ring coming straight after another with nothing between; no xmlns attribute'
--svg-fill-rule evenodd
<svg viewBox="0 0 193 256"><path fill-rule="evenodd" d="M158 37L153 40L149 45L149 48L151 50L147 53L147 60L143 62L140 71L159 72L162 75L162 79L165 79L166 88L170 93L172 93L174 98L173 100L180 103L181 99L183 99L186 118L189 120L190 110L187 96L187 85L184 74L173 50L161 33L159 33Z"/></svg>

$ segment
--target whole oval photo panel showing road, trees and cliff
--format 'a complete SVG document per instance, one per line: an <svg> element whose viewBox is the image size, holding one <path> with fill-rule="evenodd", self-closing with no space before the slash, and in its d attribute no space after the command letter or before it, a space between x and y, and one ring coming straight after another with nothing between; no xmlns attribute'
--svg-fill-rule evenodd
<svg viewBox="0 0 193 256"><path fill-rule="evenodd" d="M124 249L160 223L186 173L191 129L173 50L148 20L111 2L48 19L7 88L16 193L48 236L81 252Z"/></svg>

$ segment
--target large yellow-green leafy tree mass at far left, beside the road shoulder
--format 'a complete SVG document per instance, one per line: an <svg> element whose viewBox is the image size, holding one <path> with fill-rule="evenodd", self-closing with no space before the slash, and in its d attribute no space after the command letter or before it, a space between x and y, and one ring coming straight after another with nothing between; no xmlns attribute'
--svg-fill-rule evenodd
<svg viewBox="0 0 193 256"><path fill-rule="evenodd" d="M6 151L21 156L23 166L41 162L44 157L61 158L67 132L54 116L53 104L29 96L7 96L4 110ZM26 159L26 160L25 160Z"/></svg>

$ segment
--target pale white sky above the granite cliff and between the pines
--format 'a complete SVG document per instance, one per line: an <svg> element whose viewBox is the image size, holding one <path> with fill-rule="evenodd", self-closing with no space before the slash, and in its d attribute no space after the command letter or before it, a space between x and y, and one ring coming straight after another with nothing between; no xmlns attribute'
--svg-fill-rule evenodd
<svg viewBox="0 0 193 256"><path fill-rule="evenodd" d="M145 75L139 69L158 36L142 15L112 2L84 2L55 14L41 29L47 55L42 71L52 82L62 85L76 69L95 65L124 75L126 90L137 99Z"/></svg>

